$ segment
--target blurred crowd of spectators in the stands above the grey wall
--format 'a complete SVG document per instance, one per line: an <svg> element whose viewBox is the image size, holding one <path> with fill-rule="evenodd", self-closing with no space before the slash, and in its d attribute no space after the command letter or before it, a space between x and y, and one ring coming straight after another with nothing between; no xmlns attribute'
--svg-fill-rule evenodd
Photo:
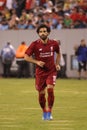
<svg viewBox="0 0 87 130"><path fill-rule="evenodd" d="M87 0L0 0L0 30L87 28Z"/></svg>

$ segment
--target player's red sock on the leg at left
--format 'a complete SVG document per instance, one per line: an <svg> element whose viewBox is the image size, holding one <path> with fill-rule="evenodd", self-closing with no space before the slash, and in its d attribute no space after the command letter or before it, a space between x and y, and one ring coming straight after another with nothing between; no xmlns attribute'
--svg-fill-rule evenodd
<svg viewBox="0 0 87 130"><path fill-rule="evenodd" d="M45 94L43 93L39 93L39 104L41 106L41 108L43 109L43 111L46 111L46 98L45 98Z"/></svg>

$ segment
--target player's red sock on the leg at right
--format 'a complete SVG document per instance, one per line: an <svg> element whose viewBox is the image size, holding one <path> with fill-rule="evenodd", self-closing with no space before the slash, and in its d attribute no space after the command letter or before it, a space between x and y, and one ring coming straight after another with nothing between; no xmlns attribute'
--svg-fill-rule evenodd
<svg viewBox="0 0 87 130"><path fill-rule="evenodd" d="M53 103L54 103L53 88L48 88L47 92L48 92L48 108L49 108L49 111L51 111L51 108L53 107Z"/></svg>

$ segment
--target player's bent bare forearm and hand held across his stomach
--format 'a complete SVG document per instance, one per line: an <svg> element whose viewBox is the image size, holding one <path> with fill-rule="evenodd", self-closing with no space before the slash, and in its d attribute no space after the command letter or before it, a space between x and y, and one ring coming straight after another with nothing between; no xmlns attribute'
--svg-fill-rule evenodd
<svg viewBox="0 0 87 130"><path fill-rule="evenodd" d="M31 63L34 63L34 64L36 64L36 65L38 65L38 66L40 66L40 67L43 67L43 66L45 65L45 62L43 62L43 61L38 61L38 60L36 60L35 58L33 58L32 56L28 56L27 54L25 54L24 59L25 59L26 61L31 62Z"/></svg>

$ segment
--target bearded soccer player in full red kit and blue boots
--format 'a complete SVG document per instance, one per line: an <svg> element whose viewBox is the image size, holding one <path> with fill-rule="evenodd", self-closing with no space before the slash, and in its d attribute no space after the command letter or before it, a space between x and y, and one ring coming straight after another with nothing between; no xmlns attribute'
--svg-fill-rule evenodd
<svg viewBox="0 0 87 130"><path fill-rule="evenodd" d="M43 111L43 120L53 118L54 86L57 71L60 69L59 44L57 41L48 38L50 32L51 30L47 25L41 24L37 28L40 39L32 42L25 52L25 60L36 64L35 86L38 90L39 104ZM56 61L54 60L54 53L56 53Z"/></svg>

